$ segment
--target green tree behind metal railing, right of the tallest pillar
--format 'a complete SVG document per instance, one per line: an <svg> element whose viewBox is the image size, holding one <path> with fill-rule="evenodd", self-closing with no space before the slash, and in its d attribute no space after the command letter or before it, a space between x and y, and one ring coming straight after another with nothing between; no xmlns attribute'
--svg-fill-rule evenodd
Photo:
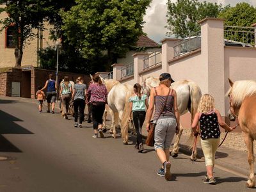
<svg viewBox="0 0 256 192"><path fill-rule="evenodd" d="M234 7L228 7L219 13L218 17L225 19L225 38L246 44L255 44L255 33L250 27L256 22L256 8L248 3L237 3ZM230 27L228 27L230 26Z"/></svg>

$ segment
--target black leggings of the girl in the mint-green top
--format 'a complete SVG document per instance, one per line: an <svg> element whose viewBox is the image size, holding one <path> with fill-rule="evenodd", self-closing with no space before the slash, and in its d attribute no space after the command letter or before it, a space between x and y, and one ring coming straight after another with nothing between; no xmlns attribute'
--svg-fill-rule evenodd
<svg viewBox="0 0 256 192"><path fill-rule="evenodd" d="M133 115L133 124L137 134L137 143L140 144L142 143L141 128L145 120L146 112L134 111L132 115Z"/></svg>

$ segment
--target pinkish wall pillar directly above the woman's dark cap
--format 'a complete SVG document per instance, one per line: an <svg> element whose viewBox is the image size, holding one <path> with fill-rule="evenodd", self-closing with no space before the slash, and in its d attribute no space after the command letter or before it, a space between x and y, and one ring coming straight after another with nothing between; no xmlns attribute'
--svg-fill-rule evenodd
<svg viewBox="0 0 256 192"><path fill-rule="evenodd" d="M177 38L164 38L160 42L162 43L162 72L169 72L168 61L174 58L174 46L177 42Z"/></svg>

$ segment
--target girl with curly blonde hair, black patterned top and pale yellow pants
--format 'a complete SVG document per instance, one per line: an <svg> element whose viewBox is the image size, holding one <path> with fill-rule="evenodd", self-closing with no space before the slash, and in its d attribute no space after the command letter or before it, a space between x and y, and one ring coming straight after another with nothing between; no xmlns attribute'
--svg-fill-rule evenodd
<svg viewBox="0 0 256 192"><path fill-rule="evenodd" d="M200 132L196 130L198 122L200 123ZM193 133L195 135L199 133L201 137L201 146L207 170L204 180L205 184L215 184L216 182L213 177L213 168L216 150L220 144L219 125L228 132L235 129L235 127L230 127L223 121L220 111L215 109L212 95L204 94L200 99L198 110L191 126Z"/></svg>

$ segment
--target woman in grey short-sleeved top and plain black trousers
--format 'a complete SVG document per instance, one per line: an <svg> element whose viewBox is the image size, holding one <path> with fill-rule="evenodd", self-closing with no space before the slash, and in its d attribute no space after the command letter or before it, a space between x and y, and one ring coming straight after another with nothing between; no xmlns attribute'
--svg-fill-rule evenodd
<svg viewBox="0 0 256 192"><path fill-rule="evenodd" d="M82 122L84 120L84 108L85 108L85 97L86 97L86 84L83 83L83 78L78 77L77 83L74 84L74 92L72 93L72 100L74 100L74 113L75 113L75 126L82 128ZM79 109L79 125L78 120L78 109Z"/></svg>

